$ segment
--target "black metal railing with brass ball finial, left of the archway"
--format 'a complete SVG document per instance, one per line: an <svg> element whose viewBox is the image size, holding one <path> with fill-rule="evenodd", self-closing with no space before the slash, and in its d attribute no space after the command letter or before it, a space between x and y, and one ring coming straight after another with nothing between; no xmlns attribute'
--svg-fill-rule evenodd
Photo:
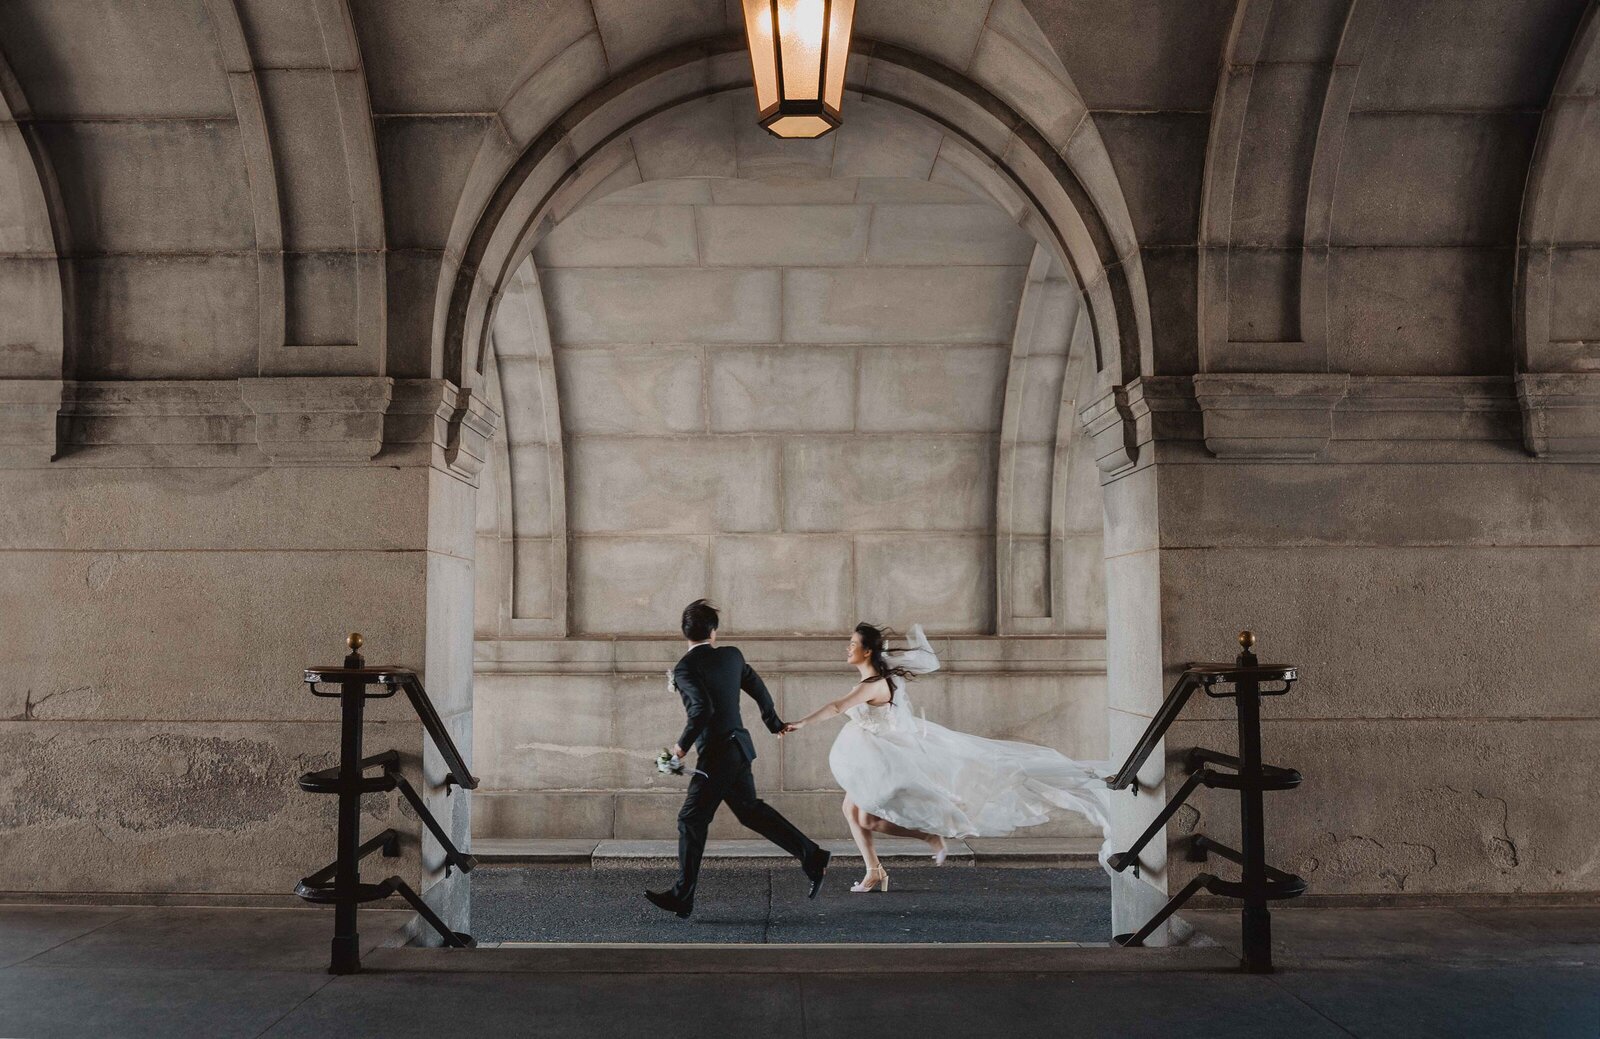
<svg viewBox="0 0 1600 1039"><path fill-rule="evenodd" d="M302 791L339 796L338 855L333 863L294 885L294 893L306 901L333 905L333 964L328 967L330 973L355 973L362 969L360 933L355 925L357 908L362 903L378 901L390 895L405 898L438 932L445 945L454 948L475 945L472 935L451 930L402 877L394 876L378 884L362 884L363 858L378 850L382 850L384 858L400 855L400 834L394 829L386 829L362 842L362 794L392 789L400 791L411 810L445 848L445 876L450 876L451 869L470 873L477 866L477 860L454 845L434 813L427 810L427 804L416 792L416 788L400 773L398 751L362 757L362 720L368 700L387 700L400 690L405 692L416 716L422 720L422 730L450 767L450 773L445 776L446 794L451 786L474 789L478 781L462 760L454 740L445 730L445 724L440 720L438 711L434 709L434 701L427 698L416 672L406 668L368 668L360 653L362 636L352 634L347 642L350 653L344 658L342 668L306 669L306 685L310 687L314 696L338 696L339 700L339 764L307 772L299 778ZM338 685L338 690L322 690L317 688L318 684ZM368 692L374 687L382 692ZM379 772L366 775L368 768Z"/></svg>

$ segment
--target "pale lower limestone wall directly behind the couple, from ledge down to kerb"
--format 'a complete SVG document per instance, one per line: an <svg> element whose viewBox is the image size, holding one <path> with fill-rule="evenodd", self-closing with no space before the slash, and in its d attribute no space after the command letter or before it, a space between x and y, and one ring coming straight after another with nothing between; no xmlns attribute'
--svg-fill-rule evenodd
<svg viewBox="0 0 1600 1039"><path fill-rule="evenodd" d="M728 639L762 672L782 717L802 717L845 695L854 672L843 640ZM909 696L930 720L1003 740L1106 757L1104 642L933 636L944 669ZM475 760L477 837L677 836L683 780L658 775L654 757L683 728L666 671L682 640L566 639L478 644ZM746 712L757 743L762 797L814 836L848 837L827 765L837 724L778 740ZM1074 816L1019 836L1086 836ZM749 836L731 813L714 837Z"/></svg>

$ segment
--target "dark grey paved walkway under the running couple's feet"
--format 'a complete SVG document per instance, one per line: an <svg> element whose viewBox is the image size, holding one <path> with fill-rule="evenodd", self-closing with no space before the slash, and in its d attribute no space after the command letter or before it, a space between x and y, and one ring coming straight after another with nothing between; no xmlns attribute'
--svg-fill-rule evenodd
<svg viewBox="0 0 1600 1039"><path fill-rule="evenodd" d="M856 895L859 864L829 869L806 900L795 866L717 864L701 874L694 916L643 898L672 869L482 868L472 874L478 941L1091 941L1110 940L1110 884L1094 869L918 866L890 890Z"/></svg>

